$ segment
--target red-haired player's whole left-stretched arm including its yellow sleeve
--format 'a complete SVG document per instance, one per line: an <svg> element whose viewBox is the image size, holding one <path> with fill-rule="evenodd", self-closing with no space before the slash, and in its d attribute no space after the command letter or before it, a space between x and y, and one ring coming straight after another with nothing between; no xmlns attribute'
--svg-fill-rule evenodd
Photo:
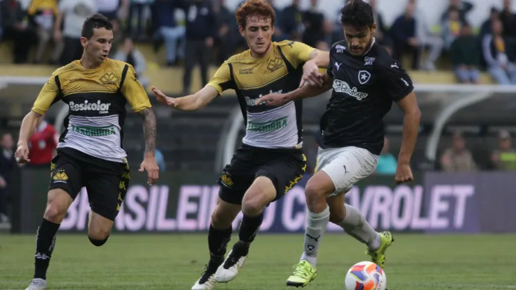
<svg viewBox="0 0 516 290"><path fill-rule="evenodd" d="M217 98L226 89L235 89L234 82L231 79L231 72L229 63L222 63L222 66L217 70L210 82L204 86L200 91L190 96L181 98L170 98L162 91L152 87L158 102L179 109L180 111L197 111L206 107L214 98Z"/></svg>

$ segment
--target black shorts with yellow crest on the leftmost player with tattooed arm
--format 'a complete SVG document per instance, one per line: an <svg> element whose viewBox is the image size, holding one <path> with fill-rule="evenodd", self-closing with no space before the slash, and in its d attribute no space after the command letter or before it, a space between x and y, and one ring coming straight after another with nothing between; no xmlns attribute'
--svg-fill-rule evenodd
<svg viewBox="0 0 516 290"><path fill-rule="evenodd" d="M128 163L95 158L72 148L58 149L52 159L49 190L60 188L77 197L86 187L91 210L114 220L126 197L130 180Z"/></svg>

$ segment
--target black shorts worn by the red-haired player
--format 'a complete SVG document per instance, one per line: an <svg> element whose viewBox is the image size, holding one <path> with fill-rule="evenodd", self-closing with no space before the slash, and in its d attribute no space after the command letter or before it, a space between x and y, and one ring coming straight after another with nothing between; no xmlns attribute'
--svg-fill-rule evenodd
<svg viewBox="0 0 516 290"><path fill-rule="evenodd" d="M276 188L276 198L283 197L298 183L306 170L303 149L268 149L243 145L236 149L231 163L218 178L220 199L242 204L243 194L259 176L265 176Z"/></svg>

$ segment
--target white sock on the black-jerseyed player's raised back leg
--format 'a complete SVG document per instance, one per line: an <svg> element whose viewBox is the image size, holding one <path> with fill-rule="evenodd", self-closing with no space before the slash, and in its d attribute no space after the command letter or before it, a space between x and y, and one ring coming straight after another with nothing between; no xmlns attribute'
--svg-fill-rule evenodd
<svg viewBox="0 0 516 290"><path fill-rule="evenodd" d="M349 204L344 204L344 206L346 206L346 217L339 223L340 227L349 236L365 243L369 250L378 250L380 247L380 234L371 227L371 224L365 220L365 217L358 209Z"/></svg>

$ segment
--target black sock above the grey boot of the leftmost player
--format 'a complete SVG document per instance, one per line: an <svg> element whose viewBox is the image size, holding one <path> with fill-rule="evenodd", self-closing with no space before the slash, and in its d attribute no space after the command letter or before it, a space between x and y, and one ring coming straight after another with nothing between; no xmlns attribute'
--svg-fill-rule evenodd
<svg viewBox="0 0 516 290"><path fill-rule="evenodd" d="M56 245L57 230L60 224L43 219L36 233L36 256L34 259L34 278L47 280L47 268Z"/></svg>

